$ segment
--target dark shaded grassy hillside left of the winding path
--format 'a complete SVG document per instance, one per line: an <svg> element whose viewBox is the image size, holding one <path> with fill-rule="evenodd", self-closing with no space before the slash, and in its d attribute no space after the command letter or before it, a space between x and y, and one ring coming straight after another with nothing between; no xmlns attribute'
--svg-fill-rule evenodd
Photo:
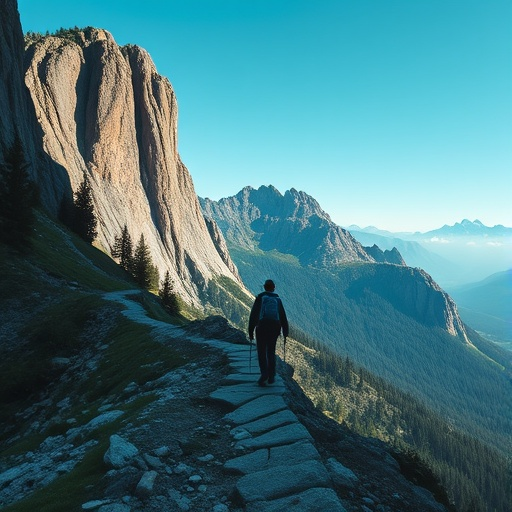
<svg viewBox="0 0 512 512"><path fill-rule="evenodd" d="M176 354L151 340L146 328L121 315L120 306L102 298L104 292L133 288L111 258L43 214L26 253L0 244L0 424L5 426L0 440L23 431L17 413L50 389L73 358L87 353L92 358L107 338L104 355L116 361L115 371L100 364L82 383L93 409L134 378L150 378L141 357L163 358L170 367L181 364ZM154 316L186 321L167 315L156 296L139 293Z"/></svg>

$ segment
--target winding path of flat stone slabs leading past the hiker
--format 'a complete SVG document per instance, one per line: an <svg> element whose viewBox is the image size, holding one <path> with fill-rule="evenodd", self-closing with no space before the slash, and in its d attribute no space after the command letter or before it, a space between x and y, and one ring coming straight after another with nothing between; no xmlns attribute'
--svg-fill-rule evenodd
<svg viewBox="0 0 512 512"><path fill-rule="evenodd" d="M148 318L127 295L129 292L115 292L106 298L123 303L128 318L155 327L157 336L178 334L179 328ZM223 419L232 425L230 434L240 455L225 461L223 467L226 473L242 475L235 487L243 509L345 511L311 435L283 400L283 380L276 376L272 385L256 384L257 360L256 354L251 354L252 347L199 337L188 339L220 349L229 358L232 373L209 396L233 408ZM338 473L340 467L336 468ZM330 469L333 471L332 466Z"/></svg>

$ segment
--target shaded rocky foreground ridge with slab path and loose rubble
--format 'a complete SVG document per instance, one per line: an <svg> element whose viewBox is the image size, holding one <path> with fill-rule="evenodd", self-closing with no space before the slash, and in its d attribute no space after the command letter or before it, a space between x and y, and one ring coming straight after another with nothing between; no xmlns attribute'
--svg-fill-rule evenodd
<svg viewBox="0 0 512 512"><path fill-rule="evenodd" d="M162 363L154 361L155 380L131 382L103 396L99 407L83 401L82 408L73 408L82 397L69 392L69 383L83 380L88 368L99 364L108 343L100 336L95 354L68 361L53 391L20 412L28 429L13 439L21 442L27 435L42 442L0 458L0 508L20 510L17 502L44 489L39 500L45 510L54 510L54 504L62 510L57 503L65 492L63 480L74 478L72 487L81 491L71 502L80 506L69 510L445 510L404 477L383 443L361 438L317 411L287 365L279 363L274 384L259 387L254 348L251 354L243 334L222 318L183 329L149 318L137 296L135 291L104 295L122 303L127 318L148 325L155 339L188 362L162 372ZM90 421L80 421L81 414ZM100 435L102 429L110 437ZM84 486L76 475L92 452L100 476Z"/></svg>

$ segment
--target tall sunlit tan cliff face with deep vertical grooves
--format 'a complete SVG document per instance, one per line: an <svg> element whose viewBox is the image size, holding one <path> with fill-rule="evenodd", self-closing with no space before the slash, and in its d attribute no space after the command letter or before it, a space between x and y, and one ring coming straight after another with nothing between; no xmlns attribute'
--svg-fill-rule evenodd
<svg viewBox="0 0 512 512"><path fill-rule="evenodd" d="M212 277L238 279L179 157L174 91L148 53L88 28L31 44L25 65L45 152L73 190L90 179L99 242L108 250L125 224L135 243L144 234L160 274L170 270L196 305ZM70 193L61 187L46 206L56 211Z"/></svg>

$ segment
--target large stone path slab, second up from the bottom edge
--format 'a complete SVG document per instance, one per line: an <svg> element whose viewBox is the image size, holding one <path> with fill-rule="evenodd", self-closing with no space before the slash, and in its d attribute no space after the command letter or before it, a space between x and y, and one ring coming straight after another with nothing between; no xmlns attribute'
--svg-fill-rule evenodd
<svg viewBox="0 0 512 512"><path fill-rule="evenodd" d="M236 484L245 503L274 500L314 487L330 486L329 474L317 460L250 473L241 477Z"/></svg>

